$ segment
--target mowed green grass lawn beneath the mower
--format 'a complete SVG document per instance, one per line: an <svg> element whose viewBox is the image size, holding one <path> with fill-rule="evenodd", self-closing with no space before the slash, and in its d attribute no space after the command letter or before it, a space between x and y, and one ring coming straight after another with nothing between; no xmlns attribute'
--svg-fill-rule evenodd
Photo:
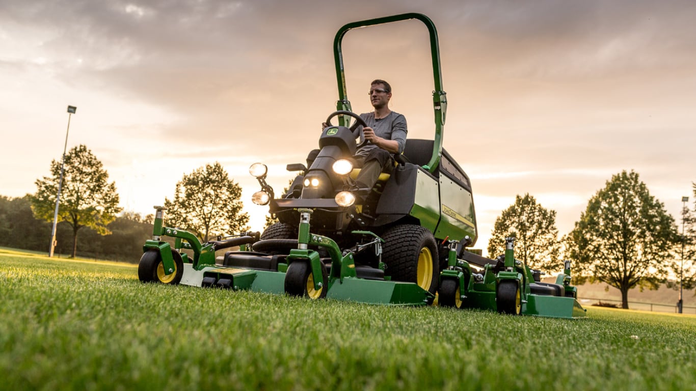
<svg viewBox="0 0 696 391"><path fill-rule="evenodd" d="M696 317L580 320L142 284L0 253L3 390L693 390Z"/></svg>

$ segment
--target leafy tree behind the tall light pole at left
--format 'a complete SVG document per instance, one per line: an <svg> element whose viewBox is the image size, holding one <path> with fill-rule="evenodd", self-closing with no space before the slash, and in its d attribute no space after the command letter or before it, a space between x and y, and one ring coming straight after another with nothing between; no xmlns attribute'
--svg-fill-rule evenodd
<svg viewBox="0 0 696 391"><path fill-rule="evenodd" d="M36 218L53 221L56 207L61 163L51 162L51 177L36 179L38 190L31 197L31 209ZM116 184L107 182L102 162L85 145L73 147L65 155L65 173L61 186L58 222L72 227L72 257L77 253L77 232L91 228L101 235L111 234L106 225L121 211L118 207Z"/></svg>

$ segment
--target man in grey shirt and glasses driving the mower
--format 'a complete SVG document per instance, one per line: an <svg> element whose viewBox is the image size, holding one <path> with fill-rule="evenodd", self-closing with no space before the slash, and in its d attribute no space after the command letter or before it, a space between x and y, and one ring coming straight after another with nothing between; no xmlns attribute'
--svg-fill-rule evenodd
<svg viewBox="0 0 696 391"><path fill-rule="evenodd" d="M361 145L354 155L356 168L361 168L356 177L358 189L372 189L380 173L393 170L392 154L404 152L408 131L406 118L389 109L391 91L386 81L377 79L370 83L370 103L374 111L360 115L367 127L358 126ZM326 123L322 127L326 127Z"/></svg>

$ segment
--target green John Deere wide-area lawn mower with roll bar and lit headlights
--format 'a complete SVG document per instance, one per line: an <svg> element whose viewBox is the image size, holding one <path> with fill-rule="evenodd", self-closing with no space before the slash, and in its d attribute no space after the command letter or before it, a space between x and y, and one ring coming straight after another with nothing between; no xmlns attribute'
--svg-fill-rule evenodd
<svg viewBox="0 0 696 391"><path fill-rule="evenodd" d="M347 98L342 38L351 29L406 19L420 20L430 35L435 136L407 139L404 153L394 157L392 173L382 174L372 189L358 189L358 169L350 158L358 147L357 127L366 125ZM427 305L439 291L440 305L456 308L578 316L583 311L572 296L569 268L561 284L545 285L514 260L512 240L509 254L498 260L466 250L477 238L473 193L468 175L442 147L447 100L438 50L435 26L425 15L342 26L334 40L339 100L319 136L319 153L309 167L287 166L301 175L279 198L265 181L266 166L255 163L249 170L261 186L253 202L269 205L278 223L260 235L246 232L201 244L189 232L166 227L164 209L156 207L140 279L389 305ZM334 118L338 125L332 124ZM176 238L174 248L163 236ZM215 256L231 246L240 249Z"/></svg>

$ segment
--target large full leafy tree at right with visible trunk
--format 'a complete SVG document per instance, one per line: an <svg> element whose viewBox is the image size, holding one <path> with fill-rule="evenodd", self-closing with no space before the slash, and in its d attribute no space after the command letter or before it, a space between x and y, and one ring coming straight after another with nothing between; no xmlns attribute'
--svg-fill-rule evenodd
<svg viewBox="0 0 696 391"><path fill-rule="evenodd" d="M657 289L665 282L678 240L674 218L662 202L650 195L638 173L624 170L590 198L568 234L567 250L581 274L619 289L622 308L628 308L629 289Z"/></svg>

